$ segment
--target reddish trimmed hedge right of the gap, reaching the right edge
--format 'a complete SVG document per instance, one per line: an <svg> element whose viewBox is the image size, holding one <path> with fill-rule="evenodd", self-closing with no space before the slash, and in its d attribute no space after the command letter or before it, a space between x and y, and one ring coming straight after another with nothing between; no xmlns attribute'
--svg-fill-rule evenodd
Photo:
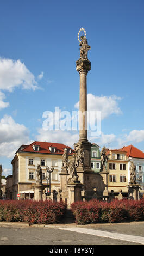
<svg viewBox="0 0 144 256"><path fill-rule="evenodd" d="M112 200L110 203L96 199L71 204L76 223L118 223L144 221L144 199L139 201Z"/></svg>

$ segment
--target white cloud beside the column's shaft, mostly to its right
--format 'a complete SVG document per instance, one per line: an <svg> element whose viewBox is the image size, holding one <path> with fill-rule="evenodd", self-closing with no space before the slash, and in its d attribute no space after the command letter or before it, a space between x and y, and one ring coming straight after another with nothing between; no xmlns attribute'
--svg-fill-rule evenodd
<svg viewBox="0 0 144 256"><path fill-rule="evenodd" d="M122 114L118 101L121 98L115 95L112 96L95 96L91 93L87 94L87 111L101 111L102 119L109 117L111 114ZM79 102L74 105L79 109Z"/></svg>

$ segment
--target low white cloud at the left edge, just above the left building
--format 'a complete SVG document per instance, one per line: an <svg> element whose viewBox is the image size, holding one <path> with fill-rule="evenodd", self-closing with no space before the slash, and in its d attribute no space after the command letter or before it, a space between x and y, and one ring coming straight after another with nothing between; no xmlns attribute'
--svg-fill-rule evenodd
<svg viewBox="0 0 144 256"><path fill-rule="evenodd" d="M13 158L22 144L30 144L27 127L8 115L0 120L0 135L0 156Z"/></svg>

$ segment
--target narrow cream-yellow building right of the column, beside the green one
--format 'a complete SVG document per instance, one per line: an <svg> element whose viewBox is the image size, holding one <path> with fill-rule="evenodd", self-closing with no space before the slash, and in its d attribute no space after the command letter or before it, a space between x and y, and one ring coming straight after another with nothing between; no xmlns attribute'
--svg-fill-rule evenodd
<svg viewBox="0 0 144 256"><path fill-rule="evenodd" d="M129 159L127 151L111 149L107 151L108 190L115 196L122 190L124 197L128 196Z"/></svg>

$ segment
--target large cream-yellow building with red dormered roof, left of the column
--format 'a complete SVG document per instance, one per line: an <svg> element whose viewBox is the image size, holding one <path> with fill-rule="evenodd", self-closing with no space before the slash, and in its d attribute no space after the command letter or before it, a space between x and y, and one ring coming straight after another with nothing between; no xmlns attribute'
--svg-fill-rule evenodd
<svg viewBox="0 0 144 256"><path fill-rule="evenodd" d="M67 149L68 156L71 157L73 150L60 143L33 142L30 145L22 145L16 152L14 159L11 161L13 166L13 196L12 199L31 199L34 196L33 187L36 184L36 169L40 164L42 169L42 183L48 187L45 176L48 175L46 167L54 167L51 173L51 189L60 188L60 175L62 167L62 154Z"/></svg>

